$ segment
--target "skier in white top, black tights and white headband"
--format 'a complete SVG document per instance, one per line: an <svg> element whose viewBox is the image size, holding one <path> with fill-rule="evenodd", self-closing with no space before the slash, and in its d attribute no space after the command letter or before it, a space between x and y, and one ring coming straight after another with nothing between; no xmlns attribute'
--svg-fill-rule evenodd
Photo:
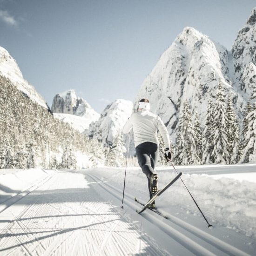
<svg viewBox="0 0 256 256"><path fill-rule="evenodd" d="M134 132L135 150L142 172L148 178L149 196L157 192L158 176L154 173L158 158L157 130L160 131L165 144L165 158L171 160L170 138L168 131L158 115L151 113L148 99L141 99L137 112L133 113L123 127L123 133L131 128ZM155 209L155 202L149 208Z"/></svg>

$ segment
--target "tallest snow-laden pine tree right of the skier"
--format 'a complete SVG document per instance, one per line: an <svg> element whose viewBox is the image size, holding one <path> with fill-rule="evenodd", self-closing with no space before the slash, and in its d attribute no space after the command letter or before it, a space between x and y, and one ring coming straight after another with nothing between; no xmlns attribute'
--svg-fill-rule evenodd
<svg viewBox="0 0 256 256"><path fill-rule="evenodd" d="M213 151L212 157L215 163L226 164L229 162L229 142L227 133L227 107L225 102L225 94L219 82L216 92L216 102L214 107L214 121L212 129L214 131L213 137Z"/></svg>

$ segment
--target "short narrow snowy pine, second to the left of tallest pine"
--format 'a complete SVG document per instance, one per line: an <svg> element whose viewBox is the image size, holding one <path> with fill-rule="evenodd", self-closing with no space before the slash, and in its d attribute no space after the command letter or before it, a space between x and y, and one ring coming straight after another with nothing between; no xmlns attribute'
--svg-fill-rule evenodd
<svg viewBox="0 0 256 256"><path fill-rule="evenodd" d="M194 164L202 163L202 127L200 125L199 116L195 113L194 125L193 125L193 140L195 144L191 148L192 162Z"/></svg>

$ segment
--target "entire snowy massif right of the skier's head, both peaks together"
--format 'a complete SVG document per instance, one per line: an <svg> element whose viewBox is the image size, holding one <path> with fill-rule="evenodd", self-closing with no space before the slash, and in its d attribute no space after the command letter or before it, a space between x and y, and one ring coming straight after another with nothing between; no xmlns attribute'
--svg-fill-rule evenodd
<svg viewBox="0 0 256 256"><path fill-rule="evenodd" d="M256 84L256 8L228 51L192 27L185 27L142 83L135 97L148 98L151 110L160 115L173 141L179 112L185 101L204 126L206 107L215 102L220 83L231 95L236 112L242 111Z"/></svg>

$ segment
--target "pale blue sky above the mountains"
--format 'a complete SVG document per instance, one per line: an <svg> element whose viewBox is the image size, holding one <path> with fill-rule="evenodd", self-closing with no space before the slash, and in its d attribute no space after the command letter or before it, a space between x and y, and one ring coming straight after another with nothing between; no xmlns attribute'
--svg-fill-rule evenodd
<svg viewBox="0 0 256 256"><path fill-rule="evenodd" d="M184 27L231 49L255 0L0 0L0 46L51 107L74 89L99 113L133 101Z"/></svg>

